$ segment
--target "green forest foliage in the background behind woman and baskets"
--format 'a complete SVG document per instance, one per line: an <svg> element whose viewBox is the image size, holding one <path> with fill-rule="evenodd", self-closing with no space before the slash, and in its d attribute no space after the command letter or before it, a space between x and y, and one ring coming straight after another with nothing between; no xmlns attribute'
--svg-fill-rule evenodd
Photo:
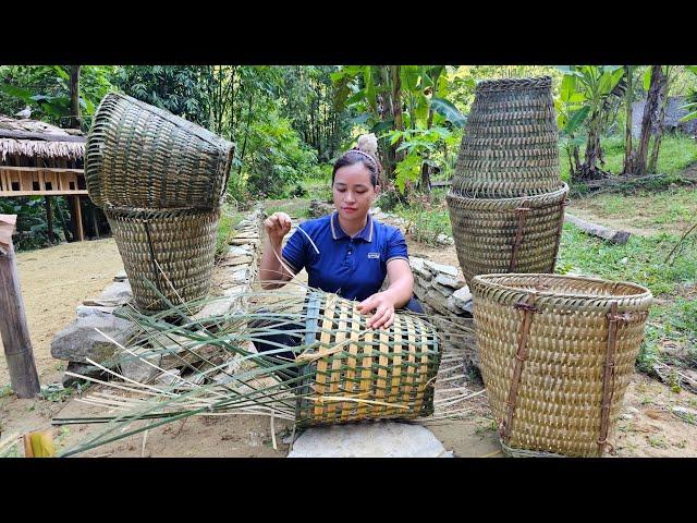
<svg viewBox="0 0 697 523"><path fill-rule="evenodd" d="M0 65L0 113L29 106L33 119L68 126L76 118L71 68ZM634 173L632 166L657 169L661 137L627 138L633 101L656 93L653 120L669 96L697 107L690 65L82 65L80 124L88 131L99 101L115 89L233 141L229 194L239 206L304 195L303 180L326 180L339 154L374 132L383 192L408 204L433 179L452 177L477 81L539 75L553 81L560 160L572 182ZM606 165L608 139L625 146L616 172ZM3 208L16 204L0 199ZM27 207L32 212L37 221L27 227L38 231L40 216Z"/></svg>

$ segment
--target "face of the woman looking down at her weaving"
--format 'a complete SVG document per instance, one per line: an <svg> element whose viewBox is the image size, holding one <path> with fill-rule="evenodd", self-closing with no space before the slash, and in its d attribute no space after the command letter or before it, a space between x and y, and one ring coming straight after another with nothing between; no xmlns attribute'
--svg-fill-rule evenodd
<svg viewBox="0 0 697 523"><path fill-rule="evenodd" d="M347 221L363 221L380 192L370 183L370 171L363 162L337 170L332 193L339 216Z"/></svg>

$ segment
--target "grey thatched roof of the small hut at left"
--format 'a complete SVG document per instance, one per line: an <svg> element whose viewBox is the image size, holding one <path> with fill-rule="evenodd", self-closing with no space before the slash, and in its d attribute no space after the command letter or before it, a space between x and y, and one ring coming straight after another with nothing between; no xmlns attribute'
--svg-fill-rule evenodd
<svg viewBox="0 0 697 523"><path fill-rule="evenodd" d="M80 160L85 155L84 137L80 135L72 129L0 114L0 161L7 161L9 156Z"/></svg>

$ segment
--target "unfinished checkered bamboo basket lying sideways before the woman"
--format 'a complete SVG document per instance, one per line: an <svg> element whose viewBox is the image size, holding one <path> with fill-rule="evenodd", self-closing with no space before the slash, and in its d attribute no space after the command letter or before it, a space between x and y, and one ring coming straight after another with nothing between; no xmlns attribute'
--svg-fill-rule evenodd
<svg viewBox="0 0 697 523"><path fill-rule="evenodd" d="M299 426L427 416L433 412L441 344L424 319L398 313L388 329L366 329L356 303L313 291L307 300L306 361Z"/></svg>

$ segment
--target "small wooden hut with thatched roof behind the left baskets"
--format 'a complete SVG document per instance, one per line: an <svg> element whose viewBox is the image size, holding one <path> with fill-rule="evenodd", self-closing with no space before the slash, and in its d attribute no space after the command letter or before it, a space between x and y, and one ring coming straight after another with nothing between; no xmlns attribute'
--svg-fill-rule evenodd
<svg viewBox="0 0 697 523"><path fill-rule="evenodd" d="M87 196L86 139L80 130L0 114L0 198L44 196L49 238L54 238L53 207L66 240L68 229L71 230L70 239L82 241L86 229L90 235L99 238L100 229L108 228L103 215ZM60 208L51 205L51 198L56 196L69 200L70 224Z"/></svg>

